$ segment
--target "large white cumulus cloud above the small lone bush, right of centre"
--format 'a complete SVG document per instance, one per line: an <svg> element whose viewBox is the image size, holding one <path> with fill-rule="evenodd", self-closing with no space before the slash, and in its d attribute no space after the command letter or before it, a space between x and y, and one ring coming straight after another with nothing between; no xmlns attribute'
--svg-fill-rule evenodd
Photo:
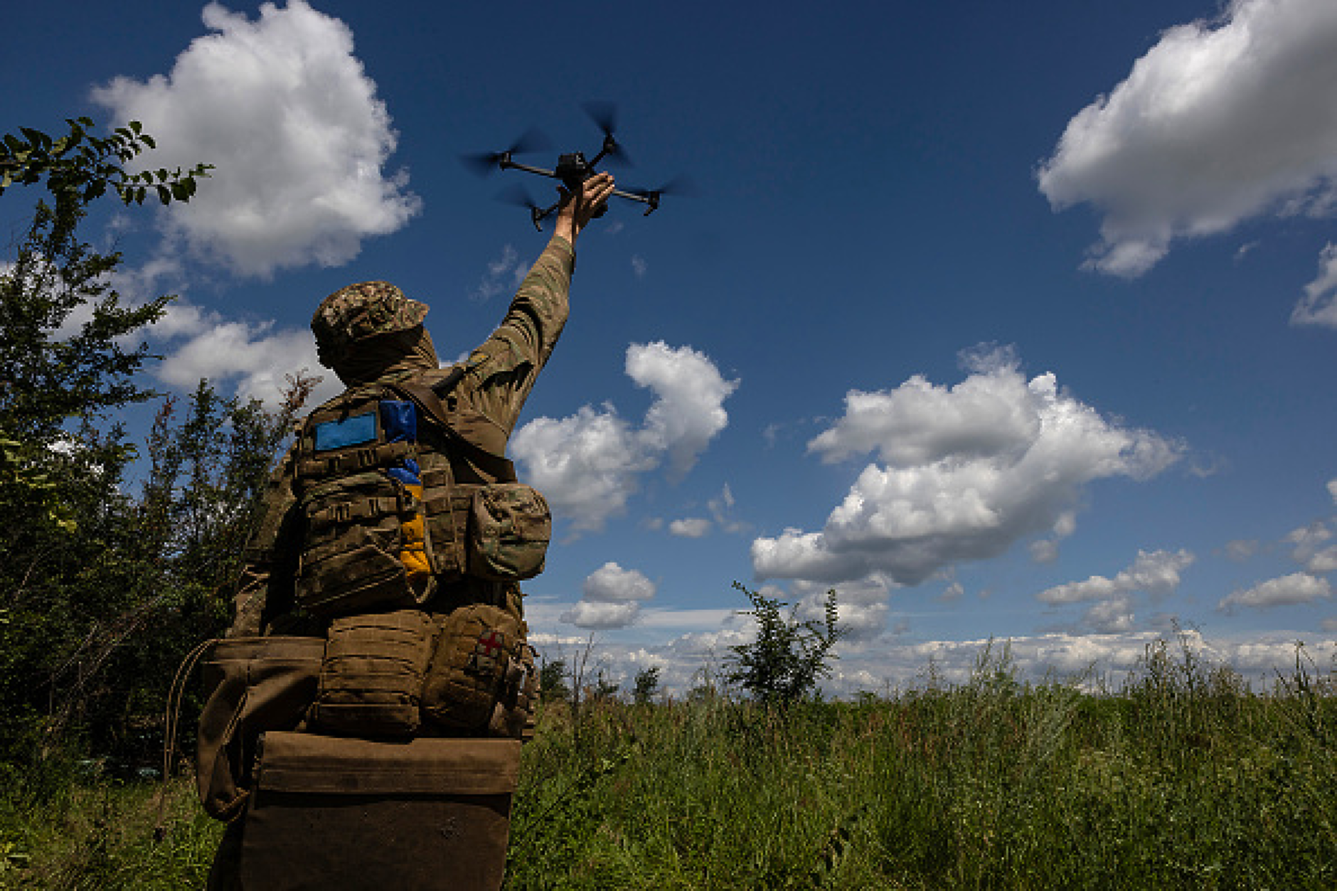
<svg viewBox="0 0 1337 891"><path fill-rule="evenodd" d="M1025 380L1007 352L968 367L973 373L952 388L916 376L892 391L850 393L845 416L810 450L829 459L870 451L884 463L862 470L821 531L755 539L758 578L829 583L881 573L917 585L1027 535L1071 532L1087 483L1150 479L1183 452L1106 420L1052 373Z"/></svg>

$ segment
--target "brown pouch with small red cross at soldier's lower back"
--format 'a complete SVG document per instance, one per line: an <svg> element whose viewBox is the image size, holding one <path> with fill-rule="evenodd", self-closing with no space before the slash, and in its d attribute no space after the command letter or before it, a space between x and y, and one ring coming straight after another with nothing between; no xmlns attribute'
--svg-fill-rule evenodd
<svg viewBox="0 0 1337 891"><path fill-rule="evenodd" d="M437 627L424 720L451 733L523 737L537 685L524 623L500 607L472 603L437 617Z"/></svg>

